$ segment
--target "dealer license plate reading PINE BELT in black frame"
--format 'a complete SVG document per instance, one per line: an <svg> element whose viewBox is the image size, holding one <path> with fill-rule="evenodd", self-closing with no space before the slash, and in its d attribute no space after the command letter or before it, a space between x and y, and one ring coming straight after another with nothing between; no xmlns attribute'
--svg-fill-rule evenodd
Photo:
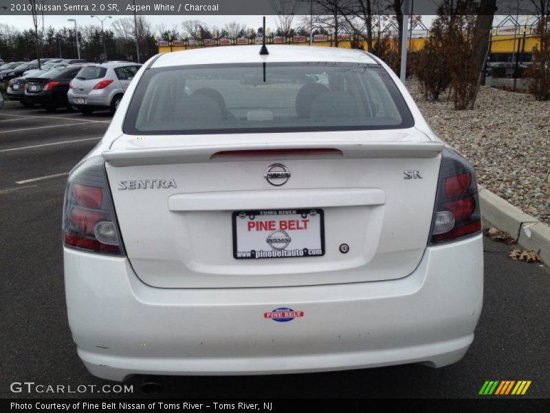
<svg viewBox="0 0 550 413"><path fill-rule="evenodd" d="M233 257L258 260L325 255L324 216L322 209L235 211Z"/></svg>

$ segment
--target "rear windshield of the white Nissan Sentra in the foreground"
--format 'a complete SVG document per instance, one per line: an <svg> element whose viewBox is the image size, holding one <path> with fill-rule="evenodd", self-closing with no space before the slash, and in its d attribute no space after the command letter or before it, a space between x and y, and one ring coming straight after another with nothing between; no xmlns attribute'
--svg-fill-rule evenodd
<svg viewBox="0 0 550 413"><path fill-rule="evenodd" d="M397 129L413 125L377 65L267 63L146 70L126 134Z"/></svg>

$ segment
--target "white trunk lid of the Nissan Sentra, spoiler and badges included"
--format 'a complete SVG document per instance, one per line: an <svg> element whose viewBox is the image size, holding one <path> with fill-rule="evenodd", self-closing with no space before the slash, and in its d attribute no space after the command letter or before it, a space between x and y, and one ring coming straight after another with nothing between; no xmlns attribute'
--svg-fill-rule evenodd
<svg viewBox="0 0 550 413"><path fill-rule="evenodd" d="M135 273L163 288L339 284L412 273L428 240L443 144L415 128L376 131L374 140L362 134L122 135L103 157ZM280 186L267 182L273 165L290 173ZM272 171L276 184L285 180L285 169ZM421 178L404 179L404 171ZM291 251L293 242L292 251L318 255L236 255Z"/></svg>

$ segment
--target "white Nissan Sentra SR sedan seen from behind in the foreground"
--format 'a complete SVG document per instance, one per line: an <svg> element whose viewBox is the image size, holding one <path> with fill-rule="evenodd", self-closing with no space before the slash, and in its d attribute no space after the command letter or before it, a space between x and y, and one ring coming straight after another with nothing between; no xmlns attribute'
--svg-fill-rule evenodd
<svg viewBox="0 0 550 413"><path fill-rule="evenodd" d="M161 54L70 173L88 370L274 374L459 361L483 302L472 167L360 50Z"/></svg>

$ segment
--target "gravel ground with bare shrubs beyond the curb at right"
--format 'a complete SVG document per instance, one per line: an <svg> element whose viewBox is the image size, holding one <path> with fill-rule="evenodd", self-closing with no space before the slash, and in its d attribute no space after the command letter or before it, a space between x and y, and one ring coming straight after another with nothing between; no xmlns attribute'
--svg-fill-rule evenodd
<svg viewBox="0 0 550 413"><path fill-rule="evenodd" d="M474 110L455 111L446 93L432 102L416 81L407 87L434 133L470 161L480 184L550 224L550 101L483 86Z"/></svg>

